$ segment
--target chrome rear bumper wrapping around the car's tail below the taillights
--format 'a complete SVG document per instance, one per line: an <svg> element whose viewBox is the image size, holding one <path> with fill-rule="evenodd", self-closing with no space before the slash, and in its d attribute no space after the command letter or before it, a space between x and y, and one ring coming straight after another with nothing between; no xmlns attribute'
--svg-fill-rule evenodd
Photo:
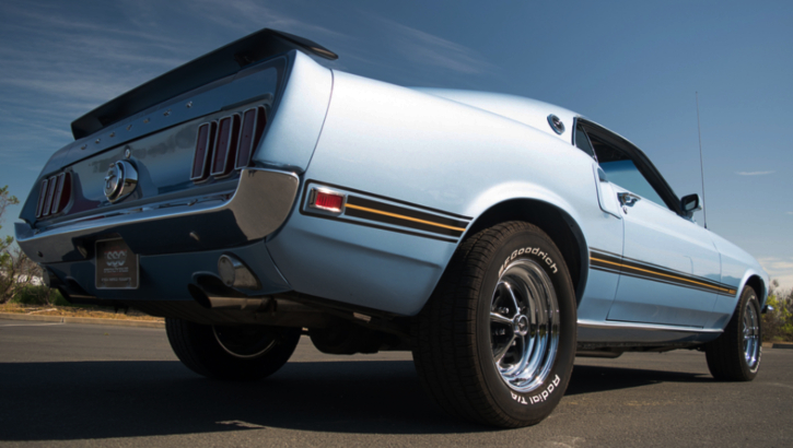
<svg viewBox="0 0 793 448"><path fill-rule="evenodd" d="M16 240L40 263L93 257L94 241L120 236L138 255L210 250L261 239L287 220L300 187L293 173L246 168L231 199L158 204L60 223L38 231L16 223Z"/></svg>

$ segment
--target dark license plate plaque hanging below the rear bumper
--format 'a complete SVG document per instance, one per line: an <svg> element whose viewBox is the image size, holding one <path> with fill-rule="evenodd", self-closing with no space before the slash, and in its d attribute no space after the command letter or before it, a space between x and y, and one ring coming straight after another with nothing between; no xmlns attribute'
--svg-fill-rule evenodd
<svg viewBox="0 0 793 448"><path fill-rule="evenodd" d="M97 240L95 249L97 290L138 288L139 258L124 239Z"/></svg>

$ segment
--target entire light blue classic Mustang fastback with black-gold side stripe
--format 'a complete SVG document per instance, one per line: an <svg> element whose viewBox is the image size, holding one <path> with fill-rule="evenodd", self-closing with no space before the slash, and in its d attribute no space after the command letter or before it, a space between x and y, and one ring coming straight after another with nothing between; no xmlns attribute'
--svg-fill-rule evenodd
<svg viewBox="0 0 793 448"><path fill-rule="evenodd" d="M72 122L16 224L73 303L166 319L232 380L412 351L445 411L530 425L575 356L704 352L750 380L768 275L635 145L538 101L331 70L263 30Z"/></svg>

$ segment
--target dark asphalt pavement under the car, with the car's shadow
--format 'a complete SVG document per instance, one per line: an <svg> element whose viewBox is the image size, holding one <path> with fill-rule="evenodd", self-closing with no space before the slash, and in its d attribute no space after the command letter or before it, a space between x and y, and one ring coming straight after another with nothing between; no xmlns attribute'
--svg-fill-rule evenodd
<svg viewBox="0 0 793 448"><path fill-rule="evenodd" d="M751 382L704 355L579 358L539 425L451 418L409 353L330 356L305 338L264 381L203 379L162 329L0 320L0 446L791 447L793 350L765 349Z"/></svg>

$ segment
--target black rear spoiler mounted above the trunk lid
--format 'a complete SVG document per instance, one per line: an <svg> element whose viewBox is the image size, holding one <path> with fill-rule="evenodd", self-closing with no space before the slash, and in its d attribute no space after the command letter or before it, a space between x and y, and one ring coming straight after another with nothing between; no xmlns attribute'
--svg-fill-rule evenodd
<svg viewBox="0 0 793 448"><path fill-rule="evenodd" d="M75 140L82 139L174 96L234 74L254 62L293 49L329 60L339 58L335 52L312 40L265 28L177 67L91 110L72 121L71 132Z"/></svg>

